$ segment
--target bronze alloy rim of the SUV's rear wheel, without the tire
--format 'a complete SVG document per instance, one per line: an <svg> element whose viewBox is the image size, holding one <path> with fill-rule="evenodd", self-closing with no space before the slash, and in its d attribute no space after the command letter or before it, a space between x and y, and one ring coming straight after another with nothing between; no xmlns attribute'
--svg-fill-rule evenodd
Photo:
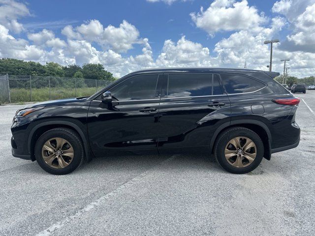
<svg viewBox="0 0 315 236"><path fill-rule="evenodd" d="M227 162L238 168L249 166L255 159L257 148L254 142L247 137L231 139L224 149Z"/></svg>

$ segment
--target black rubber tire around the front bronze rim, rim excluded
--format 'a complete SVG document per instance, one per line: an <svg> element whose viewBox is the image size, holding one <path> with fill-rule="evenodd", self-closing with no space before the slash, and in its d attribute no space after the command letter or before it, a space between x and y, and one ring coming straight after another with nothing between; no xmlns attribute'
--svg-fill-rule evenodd
<svg viewBox="0 0 315 236"><path fill-rule="evenodd" d="M46 141L52 138L63 138L69 142L73 148L73 158L71 163L61 169L55 169L49 166L42 157L42 148ZM46 172L53 175L66 175L78 168L84 159L84 149L80 136L68 128L54 128L43 133L35 144L34 154L39 166Z"/></svg>

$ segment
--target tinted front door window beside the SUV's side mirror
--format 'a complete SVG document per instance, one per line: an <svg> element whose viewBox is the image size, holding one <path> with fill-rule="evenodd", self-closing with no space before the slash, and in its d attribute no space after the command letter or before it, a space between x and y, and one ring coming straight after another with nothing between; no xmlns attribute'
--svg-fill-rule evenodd
<svg viewBox="0 0 315 236"><path fill-rule="evenodd" d="M153 99L157 82L158 75L139 75L127 79L110 91L119 101Z"/></svg>

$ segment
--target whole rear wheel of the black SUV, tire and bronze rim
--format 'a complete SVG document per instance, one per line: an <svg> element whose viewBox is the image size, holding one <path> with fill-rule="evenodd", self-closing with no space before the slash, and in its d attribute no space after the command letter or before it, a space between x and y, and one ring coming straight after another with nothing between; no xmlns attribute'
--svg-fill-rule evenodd
<svg viewBox="0 0 315 236"><path fill-rule="evenodd" d="M229 128L221 133L215 148L216 160L226 171L245 174L261 162L264 146L259 136L244 127Z"/></svg>

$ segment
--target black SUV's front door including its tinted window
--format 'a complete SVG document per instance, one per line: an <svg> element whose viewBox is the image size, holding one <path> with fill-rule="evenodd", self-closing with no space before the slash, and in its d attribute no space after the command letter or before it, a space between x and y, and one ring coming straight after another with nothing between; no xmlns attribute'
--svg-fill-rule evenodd
<svg viewBox="0 0 315 236"><path fill-rule="evenodd" d="M160 75L161 77L162 75ZM95 155L112 151L157 152L158 74L135 75L110 88L112 103L97 99L88 113L88 133Z"/></svg>

